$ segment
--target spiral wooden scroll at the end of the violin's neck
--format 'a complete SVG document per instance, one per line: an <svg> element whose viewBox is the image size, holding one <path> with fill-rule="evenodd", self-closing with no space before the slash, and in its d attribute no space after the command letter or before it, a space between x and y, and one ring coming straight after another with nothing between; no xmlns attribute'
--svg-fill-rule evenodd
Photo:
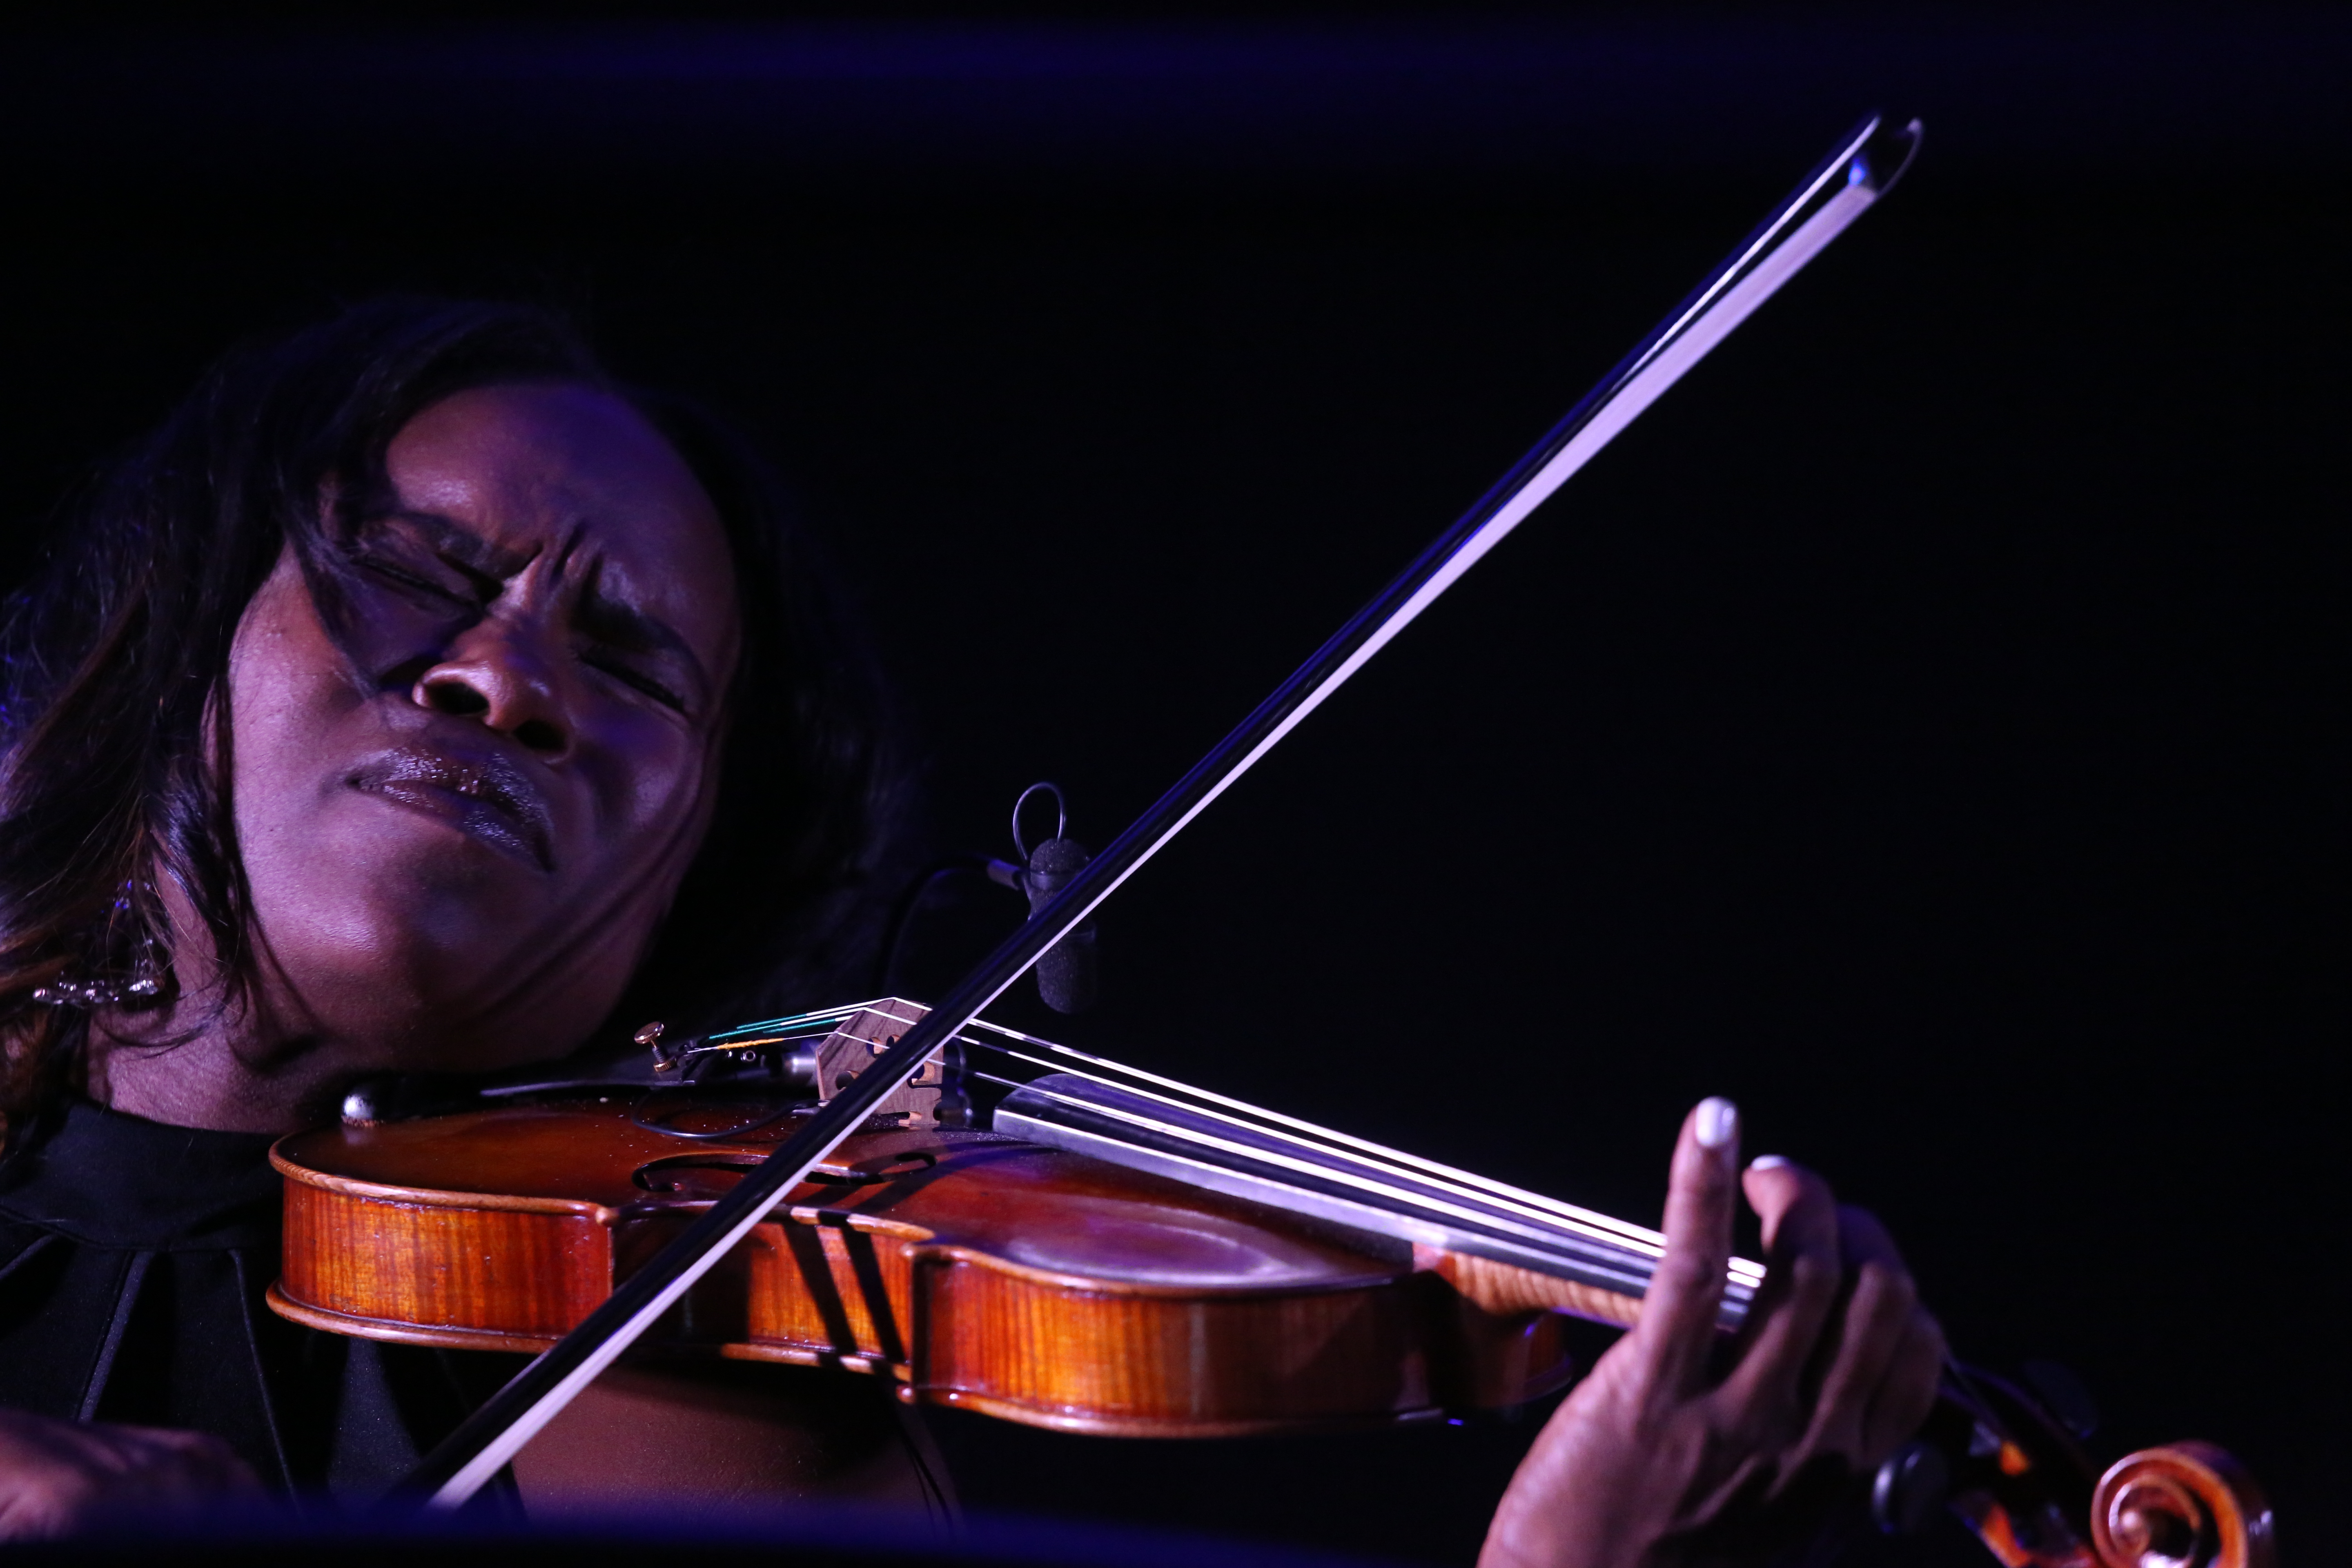
<svg viewBox="0 0 2352 1568"><path fill-rule="evenodd" d="M2263 1488L2211 1443L2124 1455L2091 1493L2103 1568L2277 1568Z"/></svg>

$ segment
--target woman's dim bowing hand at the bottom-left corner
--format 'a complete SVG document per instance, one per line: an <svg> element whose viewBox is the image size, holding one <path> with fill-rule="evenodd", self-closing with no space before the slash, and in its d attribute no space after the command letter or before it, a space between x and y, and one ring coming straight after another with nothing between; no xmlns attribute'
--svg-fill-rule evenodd
<svg viewBox="0 0 2352 1568"><path fill-rule="evenodd" d="M106 1514L256 1493L216 1436L0 1410L0 1540L73 1535Z"/></svg>

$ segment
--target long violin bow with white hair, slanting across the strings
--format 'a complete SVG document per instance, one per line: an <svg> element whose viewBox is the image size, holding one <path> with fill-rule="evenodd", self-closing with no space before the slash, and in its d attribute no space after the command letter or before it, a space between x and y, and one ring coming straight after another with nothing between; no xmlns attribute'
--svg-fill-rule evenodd
<svg viewBox="0 0 2352 1568"><path fill-rule="evenodd" d="M729 1253L866 1117L981 1016L1047 950L1160 853L1291 729L1348 684L1364 663L1503 543L1529 512L1592 461L1625 425L1698 364L1846 230L1910 167L1919 122L1889 127L1870 115L1830 150L1731 256L1708 275L1616 369L1602 376L1536 447L1454 527L1437 536L1378 597L1359 609L1256 712L1216 743L1127 832L1087 863L978 969L938 999L807 1124L720 1197L675 1241L630 1274L579 1328L489 1396L409 1472L397 1495L459 1507L612 1366L663 1312Z"/></svg>

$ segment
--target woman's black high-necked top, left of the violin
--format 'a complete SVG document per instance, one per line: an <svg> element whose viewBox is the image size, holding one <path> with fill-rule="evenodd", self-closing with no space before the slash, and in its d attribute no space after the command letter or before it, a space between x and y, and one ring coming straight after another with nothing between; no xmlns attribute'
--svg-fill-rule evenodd
<svg viewBox="0 0 2352 1568"><path fill-rule="evenodd" d="M0 1406L195 1427L266 1483L381 1495L522 1356L299 1328L266 1133L75 1100L0 1166Z"/></svg>

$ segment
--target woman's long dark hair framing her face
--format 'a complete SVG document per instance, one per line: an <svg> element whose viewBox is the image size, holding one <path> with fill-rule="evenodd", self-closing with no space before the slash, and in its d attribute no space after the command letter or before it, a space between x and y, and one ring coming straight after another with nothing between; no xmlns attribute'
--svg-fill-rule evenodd
<svg viewBox="0 0 2352 1568"><path fill-rule="evenodd" d="M734 548L743 651L720 799L616 1018L739 1020L837 1001L889 893L903 785L868 639L774 473L696 404L619 386L560 317L381 299L233 353L68 508L0 625L0 1117L71 1077L73 978L169 973L148 886L186 889L230 994L254 983L228 790L228 649L287 543L336 623L341 543L428 404L567 381L628 397L684 456Z"/></svg>

